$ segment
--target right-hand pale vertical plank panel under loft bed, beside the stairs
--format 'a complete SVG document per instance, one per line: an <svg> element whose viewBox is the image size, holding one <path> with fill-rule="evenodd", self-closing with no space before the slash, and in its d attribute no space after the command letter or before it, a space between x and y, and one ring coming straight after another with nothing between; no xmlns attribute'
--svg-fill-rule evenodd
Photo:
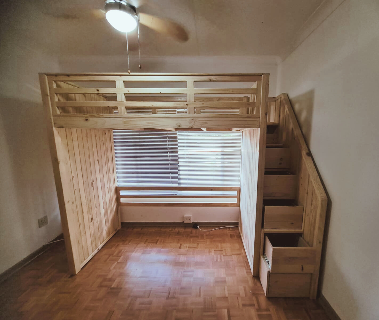
<svg viewBox="0 0 379 320"><path fill-rule="evenodd" d="M253 270L260 129L242 132L240 234Z"/></svg>

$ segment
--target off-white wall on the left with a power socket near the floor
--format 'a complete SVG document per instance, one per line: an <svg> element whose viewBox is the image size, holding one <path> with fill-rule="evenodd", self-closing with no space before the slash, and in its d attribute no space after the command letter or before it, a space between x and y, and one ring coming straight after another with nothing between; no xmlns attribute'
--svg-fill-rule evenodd
<svg viewBox="0 0 379 320"><path fill-rule="evenodd" d="M0 273L62 232L38 82L38 72L59 71L58 59L34 48L3 14ZM39 229L37 219L44 215L49 224Z"/></svg>

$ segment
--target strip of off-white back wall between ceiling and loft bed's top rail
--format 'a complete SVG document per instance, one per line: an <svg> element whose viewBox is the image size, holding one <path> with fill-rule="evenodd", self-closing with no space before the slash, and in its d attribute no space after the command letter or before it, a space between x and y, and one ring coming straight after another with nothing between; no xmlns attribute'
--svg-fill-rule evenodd
<svg viewBox="0 0 379 320"><path fill-rule="evenodd" d="M131 72L257 72L270 74L269 95L276 94L276 56L149 56L141 57L142 69L138 69L138 56L130 57ZM63 56L61 72L127 72L126 56Z"/></svg>

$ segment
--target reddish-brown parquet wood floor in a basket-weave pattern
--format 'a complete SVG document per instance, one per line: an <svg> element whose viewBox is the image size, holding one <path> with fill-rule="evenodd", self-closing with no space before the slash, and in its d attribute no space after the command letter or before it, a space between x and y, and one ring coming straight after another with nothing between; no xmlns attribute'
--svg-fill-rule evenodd
<svg viewBox="0 0 379 320"><path fill-rule="evenodd" d="M237 228L122 228L76 276L58 242L0 301L6 320L329 320L316 301L266 298Z"/></svg>

